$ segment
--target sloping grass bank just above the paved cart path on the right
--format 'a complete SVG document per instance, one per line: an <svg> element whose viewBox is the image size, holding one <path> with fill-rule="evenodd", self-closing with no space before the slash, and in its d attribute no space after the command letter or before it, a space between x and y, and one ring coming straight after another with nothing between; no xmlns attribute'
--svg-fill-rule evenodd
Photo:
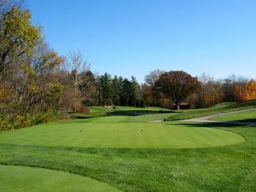
<svg viewBox="0 0 256 192"><path fill-rule="evenodd" d="M217 113L238 111L247 108L256 108L256 100L241 103L221 103L214 106L213 108L183 110L177 113L172 113L172 115L170 115L170 117L166 120L172 121L182 119L193 119Z"/></svg>

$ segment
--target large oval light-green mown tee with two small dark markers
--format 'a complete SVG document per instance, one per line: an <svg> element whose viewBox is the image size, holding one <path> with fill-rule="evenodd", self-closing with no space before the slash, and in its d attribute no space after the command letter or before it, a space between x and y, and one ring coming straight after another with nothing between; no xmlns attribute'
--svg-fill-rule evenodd
<svg viewBox="0 0 256 192"><path fill-rule="evenodd" d="M231 131L170 123L44 124L0 134L3 144L81 148L203 148L243 142Z"/></svg>

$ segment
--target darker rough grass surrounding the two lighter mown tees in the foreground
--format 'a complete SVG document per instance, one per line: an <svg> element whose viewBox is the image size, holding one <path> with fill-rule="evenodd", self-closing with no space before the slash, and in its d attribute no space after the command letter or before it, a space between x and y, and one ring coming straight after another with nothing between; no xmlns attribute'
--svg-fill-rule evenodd
<svg viewBox="0 0 256 192"><path fill-rule="evenodd" d="M254 127L187 123L183 126L236 132L246 141L215 148L70 148L24 146L15 143L18 138L14 137L13 144L0 144L0 164L73 172L125 192L256 191ZM2 180L0 185L4 185Z"/></svg>

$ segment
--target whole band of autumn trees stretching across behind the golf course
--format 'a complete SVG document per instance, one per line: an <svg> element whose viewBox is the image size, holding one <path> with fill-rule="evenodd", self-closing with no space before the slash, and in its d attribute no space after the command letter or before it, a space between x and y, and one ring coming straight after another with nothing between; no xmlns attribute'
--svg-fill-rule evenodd
<svg viewBox="0 0 256 192"><path fill-rule="evenodd" d="M21 4L0 0L0 130L89 113L93 105L209 108L256 98L255 80L234 75L216 80L155 70L139 84L133 76L92 73L79 50L62 56L51 49Z"/></svg>

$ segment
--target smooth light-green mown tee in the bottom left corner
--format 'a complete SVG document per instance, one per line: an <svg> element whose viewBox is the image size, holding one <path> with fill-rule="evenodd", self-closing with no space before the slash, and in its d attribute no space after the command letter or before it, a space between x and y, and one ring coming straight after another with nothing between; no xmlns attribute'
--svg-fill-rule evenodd
<svg viewBox="0 0 256 192"><path fill-rule="evenodd" d="M26 166L0 166L0 186L4 192L120 192L88 177Z"/></svg>

